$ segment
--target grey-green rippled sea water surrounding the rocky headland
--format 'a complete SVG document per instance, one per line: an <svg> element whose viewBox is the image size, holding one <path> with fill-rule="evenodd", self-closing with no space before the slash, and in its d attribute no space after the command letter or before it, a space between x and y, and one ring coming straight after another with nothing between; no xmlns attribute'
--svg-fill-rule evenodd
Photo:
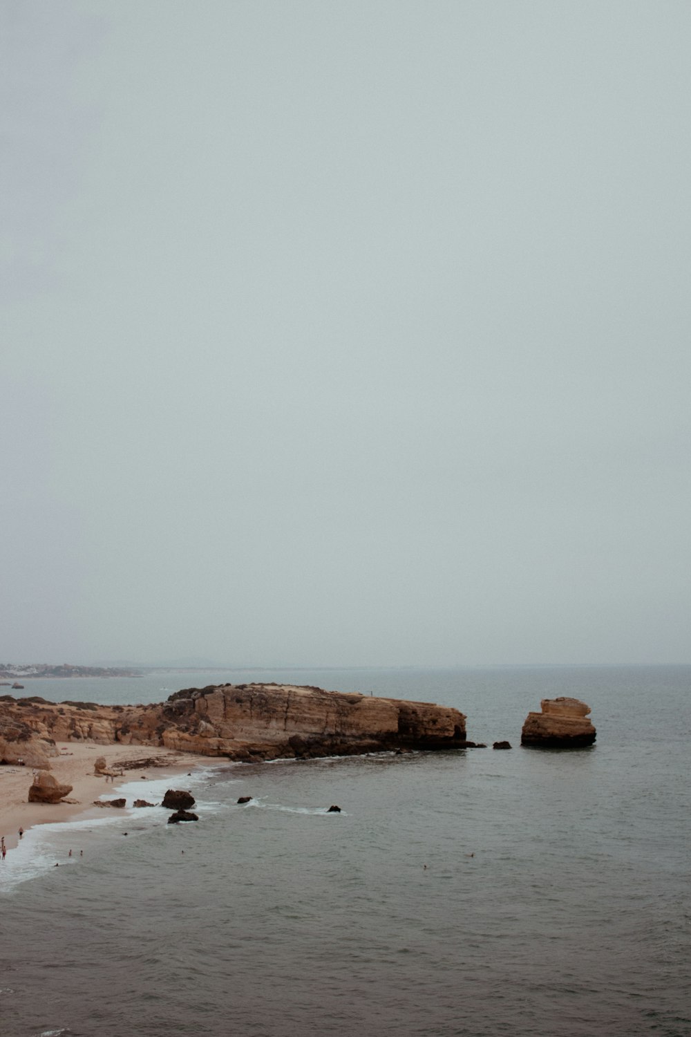
<svg viewBox="0 0 691 1037"><path fill-rule="evenodd" d="M436 701L515 748L210 762L177 782L196 824L156 809L33 829L0 865L3 1037L691 1034L691 668L224 671L25 694L145 702L222 679ZM593 707L596 747L519 748L556 695Z"/></svg>

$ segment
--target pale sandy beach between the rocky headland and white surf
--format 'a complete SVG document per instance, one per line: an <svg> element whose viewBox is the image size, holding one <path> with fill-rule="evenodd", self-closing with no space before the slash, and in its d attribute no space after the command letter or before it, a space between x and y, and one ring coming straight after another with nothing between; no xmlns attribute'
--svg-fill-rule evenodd
<svg viewBox="0 0 691 1037"><path fill-rule="evenodd" d="M94 800L106 793L106 798L116 798L118 785L137 781L138 778L153 776L171 778L186 775L193 767L208 765L206 756L179 753L174 750L154 749L150 746L100 746L94 742L59 741L56 744L58 756L51 758L50 773L60 784L71 785L73 790L66 802L55 804L28 803L29 786L33 781L31 767L0 766L0 835L5 837L5 845L11 849L19 841L19 830L27 832L34 824L66 821L77 815L88 816L93 812L100 816L102 807L94 807ZM123 763L131 760L155 757L163 765L144 767L140 770L124 770L113 780L94 774L94 764L99 756L106 758L106 769L117 774ZM184 788L184 783L177 783ZM177 787L176 784L176 787ZM132 804L127 804L132 806Z"/></svg>

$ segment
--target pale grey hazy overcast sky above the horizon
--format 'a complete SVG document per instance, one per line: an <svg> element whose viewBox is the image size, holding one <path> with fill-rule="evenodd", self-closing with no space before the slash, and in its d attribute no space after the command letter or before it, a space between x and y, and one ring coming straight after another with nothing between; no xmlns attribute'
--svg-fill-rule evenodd
<svg viewBox="0 0 691 1037"><path fill-rule="evenodd" d="M0 658L691 662L686 0L0 13Z"/></svg>

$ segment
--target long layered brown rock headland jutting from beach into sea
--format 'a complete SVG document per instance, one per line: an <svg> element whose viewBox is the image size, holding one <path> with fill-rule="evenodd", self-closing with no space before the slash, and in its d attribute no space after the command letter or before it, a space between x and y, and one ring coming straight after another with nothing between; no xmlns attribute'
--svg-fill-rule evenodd
<svg viewBox="0 0 691 1037"><path fill-rule="evenodd" d="M465 717L458 709L293 684L188 689L147 706L57 705L35 698L9 701L5 696L0 716L21 725L16 730L23 734L25 757L29 742L40 742L48 756L52 741L87 739L165 746L231 759L466 745ZM20 748L13 752L12 747ZM15 762L22 755L20 740L7 739L2 755Z"/></svg>

